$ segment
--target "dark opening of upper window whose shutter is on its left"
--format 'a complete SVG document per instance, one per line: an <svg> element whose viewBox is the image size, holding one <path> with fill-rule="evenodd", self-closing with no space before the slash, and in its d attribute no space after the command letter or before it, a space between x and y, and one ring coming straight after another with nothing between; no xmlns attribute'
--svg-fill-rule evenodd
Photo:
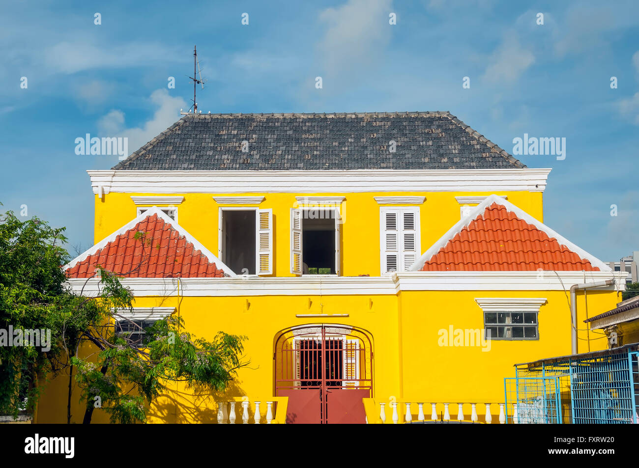
<svg viewBox="0 0 639 468"><path fill-rule="evenodd" d="M322 215L323 217L318 217ZM304 210L302 259L304 275L335 275L335 213Z"/></svg>

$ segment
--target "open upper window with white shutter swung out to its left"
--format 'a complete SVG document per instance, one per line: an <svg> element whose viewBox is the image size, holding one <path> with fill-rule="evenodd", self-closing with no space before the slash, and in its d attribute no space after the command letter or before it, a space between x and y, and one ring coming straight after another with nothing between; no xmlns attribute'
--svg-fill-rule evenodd
<svg viewBox="0 0 639 468"><path fill-rule="evenodd" d="M291 209L291 273L339 275L339 208Z"/></svg>

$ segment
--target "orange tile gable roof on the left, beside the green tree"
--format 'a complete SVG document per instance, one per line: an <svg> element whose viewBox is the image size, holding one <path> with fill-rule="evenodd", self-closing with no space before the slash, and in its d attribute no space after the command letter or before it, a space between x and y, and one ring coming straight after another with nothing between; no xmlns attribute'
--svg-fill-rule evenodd
<svg viewBox="0 0 639 468"><path fill-rule="evenodd" d="M161 216L161 215L160 215ZM127 278L221 278L224 271L158 213L146 216L95 252L68 265L69 278L89 278L96 265ZM135 234L143 235L135 239ZM98 244L99 246L99 244ZM84 255L84 254L82 254ZM81 257L82 257L81 255ZM79 257L80 258L80 257Z"/></svg>

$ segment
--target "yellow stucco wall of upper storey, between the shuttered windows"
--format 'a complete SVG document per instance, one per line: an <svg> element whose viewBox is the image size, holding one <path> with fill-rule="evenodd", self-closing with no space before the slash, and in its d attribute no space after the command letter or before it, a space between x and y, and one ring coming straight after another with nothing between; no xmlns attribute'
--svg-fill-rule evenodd
<svg viewBox="0 0 639 468"><path fill-rule="evenodd" d="M508 201L543 222L541 192L498 192ZM95 197L95 242L130 222L137 213L132 195L149 193L108 193L104 200ZM155 194L157 195L157 194ZM175 195L165 193L162 195ZM184 195L178 207L178 223L215 255L218 254L219 207L237 206L217 204L214 193ZM243 195L262 195L246 193ZM273 276L291 274L291 208L296 206L295 193L267 193L259 208L273 209ZM380 275L380 205L377 196L421 195L426 197L420 206L421 250L426 249L459 221L457 195L487 196L490 192L383 192L383 193L314 193L304 196L346 197L341 210L341 274L343 276ZM158 205L159 206L159 205ZM165 205L166 206L166 205ZM258 205L247 205L256 207ZM397 205L401 206L401 205ZM414 206L414 205L412 205ZM240 273L240 272L236 272Z"/></svg>

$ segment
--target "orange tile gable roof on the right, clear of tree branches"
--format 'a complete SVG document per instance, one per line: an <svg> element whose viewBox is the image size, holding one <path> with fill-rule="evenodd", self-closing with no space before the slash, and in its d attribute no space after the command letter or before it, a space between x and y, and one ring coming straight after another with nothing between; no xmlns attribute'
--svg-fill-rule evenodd
<svg viewBox="0 0 639 468"><path fill-rule="evenodd" d="M543 224L536 222L539 226L535 226L522 220L507 206L512 205L508 202L487 205L426 259L420 270L599 271L590 260L548 236Z"/></svg>

